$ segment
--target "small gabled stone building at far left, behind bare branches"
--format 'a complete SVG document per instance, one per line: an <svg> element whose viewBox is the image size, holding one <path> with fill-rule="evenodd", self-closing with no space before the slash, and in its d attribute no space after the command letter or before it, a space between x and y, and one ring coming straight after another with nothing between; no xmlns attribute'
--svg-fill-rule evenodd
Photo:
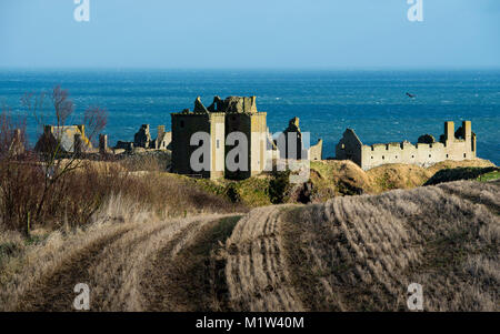
<svg viewBox="0 0 500 334"><path fill-rule="evenodd" d="M81 153L92 152L92 143L86 136L86 125L43 126L43 134L34 145L37 152Z"/></svg>

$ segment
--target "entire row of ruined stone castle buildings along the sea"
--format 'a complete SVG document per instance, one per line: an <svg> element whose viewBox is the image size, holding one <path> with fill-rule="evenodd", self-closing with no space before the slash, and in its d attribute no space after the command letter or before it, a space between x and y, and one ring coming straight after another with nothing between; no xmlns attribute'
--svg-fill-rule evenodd
<svg viewBox="0 0 500 334"><path fill-rule="evenodd" d="M164 125L159 125L156 139L151 138L149 124L142 124L133 142L119 141L116 148L109 149L108 135L100 134L99 149L93 149L86 136L84 125L46 125L36 151L52 152L56 146L62 154L146 151L166 151L169 154L171 151L170 171L173 173L232 180L272 171L274 163L287 163L287 160L322 160L322 140L306 146L309 134L301 132L298 118L291 119L276 140L267 128L266 118L266 112L257 110L256 97L229 97L224 100L214 97L208 108L197 98L193 111L184 109L171 113L172 131L166 132ZM470 121L463 121L457 131L453 122L444 122L444 133L439 141L431 134L423 134L416 144L402 141L367 145L354 130L347 129L336 145L336 159L351 160L363 170L389 163L430 166L446 160L476 159L476 144ZM17 151L22 152L22 149Z"/></svg>

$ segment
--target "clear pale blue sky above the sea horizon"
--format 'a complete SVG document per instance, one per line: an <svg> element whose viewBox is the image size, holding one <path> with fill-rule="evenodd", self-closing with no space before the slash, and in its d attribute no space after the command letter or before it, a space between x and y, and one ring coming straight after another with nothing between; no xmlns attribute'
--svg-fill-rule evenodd
<svg viewBox="0 0 500 334"><path fill-rule="evenodd" d="M0 0L2 68L500 68L499 0Z"/></svg>

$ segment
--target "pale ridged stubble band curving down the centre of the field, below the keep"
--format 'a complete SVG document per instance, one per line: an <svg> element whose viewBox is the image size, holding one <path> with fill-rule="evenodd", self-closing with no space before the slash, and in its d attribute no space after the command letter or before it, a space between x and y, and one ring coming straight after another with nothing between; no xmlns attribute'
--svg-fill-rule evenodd
<svg viewBox="0 0 500 334"><path fill-rule="evenodd" d="M288 272L280 235L286 206L266 206L243 216L227 241L226 277L234 311L302 311Z"/></svg>

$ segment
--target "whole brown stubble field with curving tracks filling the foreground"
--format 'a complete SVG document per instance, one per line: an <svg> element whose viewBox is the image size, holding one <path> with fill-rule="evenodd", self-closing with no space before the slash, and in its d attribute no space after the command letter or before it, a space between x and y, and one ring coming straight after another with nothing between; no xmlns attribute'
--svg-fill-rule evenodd
<svg viewBox="0 0 500 334"><path fill-rule="evenodd" d="M499 311L500 182L164 219L116 199L36 243L0 233L0 310ZM120 216L120 220L112 217Z"/></svg>

